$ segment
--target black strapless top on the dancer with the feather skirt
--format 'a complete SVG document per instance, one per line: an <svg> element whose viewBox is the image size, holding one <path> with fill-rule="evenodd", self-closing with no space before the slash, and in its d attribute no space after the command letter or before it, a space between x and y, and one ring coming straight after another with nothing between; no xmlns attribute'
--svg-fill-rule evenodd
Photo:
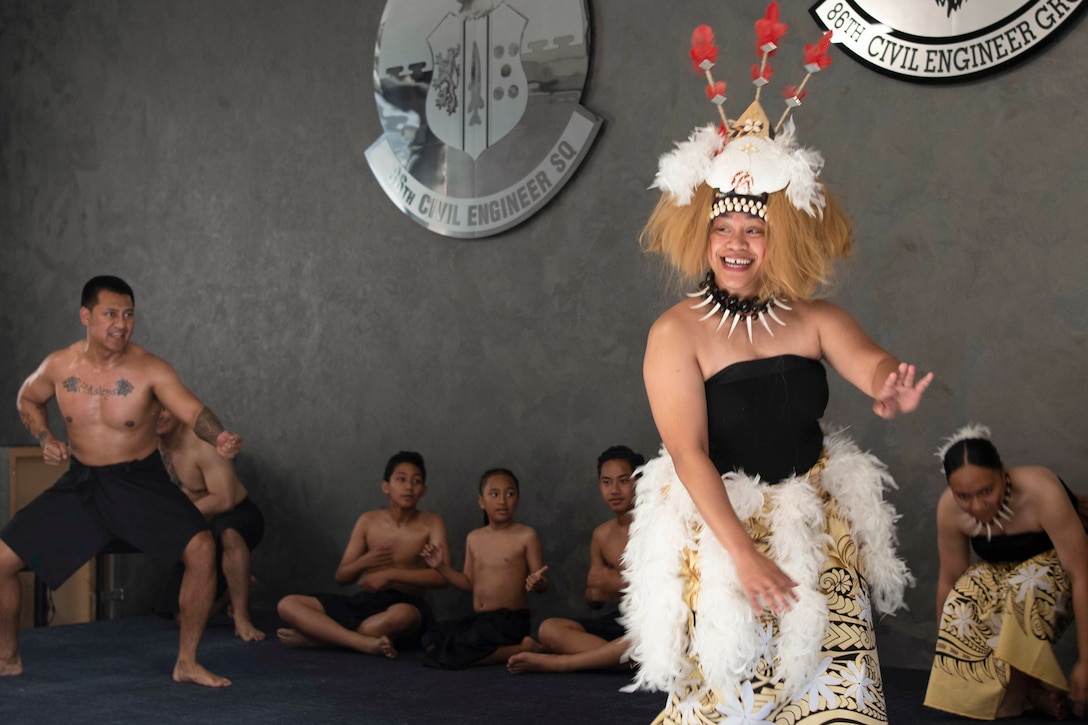
<svg viewBox="0 0 1088 725"><path fill-rule="evenodd" d="M780 355L745 360L706 381L710 460L778 483L819 459L827 371L819 360Z"/></svg>

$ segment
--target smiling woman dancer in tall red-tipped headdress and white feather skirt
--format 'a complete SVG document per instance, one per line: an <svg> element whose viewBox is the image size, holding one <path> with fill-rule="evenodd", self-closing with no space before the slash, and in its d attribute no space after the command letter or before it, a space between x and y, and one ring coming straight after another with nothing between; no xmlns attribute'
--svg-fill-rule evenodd
<svg viewBox="0 0 1088 725"><path fill-rule="evenodd" d="M932 376L916 379L813 298L850 253L850 222L819 153L759 103L784 30L771 3L756 24L756 101L662 158L643 232L701 284L650 331L644 377L664 450L643 468L625 552L632 687L670 693L663 723L887 722L873 606L901 607L912 581L882 499L891 477L820 427L824 361L883 418L913 410ZM809 76L828 42L805 49ZM701 26L692 60L720 109L716 57ZM787 113L804 85L788 89Z"/></svg>

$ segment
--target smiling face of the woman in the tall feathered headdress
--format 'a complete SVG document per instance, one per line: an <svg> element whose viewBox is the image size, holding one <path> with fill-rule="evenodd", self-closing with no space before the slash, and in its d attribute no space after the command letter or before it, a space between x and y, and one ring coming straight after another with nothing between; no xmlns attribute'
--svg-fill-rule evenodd
<svg viewBox="0 0 1088 725"><path fill-rule="evenodd" d="M710 222L706 257L719 288L741 297L759 292L759 269L767 256L767 223L729 211Z"/></svg>

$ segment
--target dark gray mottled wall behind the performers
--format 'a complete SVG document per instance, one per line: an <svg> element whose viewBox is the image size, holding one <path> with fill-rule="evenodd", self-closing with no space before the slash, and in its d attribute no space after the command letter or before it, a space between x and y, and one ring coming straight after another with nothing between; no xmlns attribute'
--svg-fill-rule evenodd
<svg viewBox="0 0 1088 725"><path fill-rule="evenodd" d="M783 3L775 88L794 82L787 49L818 36L808 4ZM30 442L15 393L82 336L83 282L120 274L136 288L137 341L246 437L238 467L269 524L258 605L327 590L356 516L383 505L386 457L416 448L424 504L446 517L458 563L480 471L518 472L519 518L553 573L536 612L570 612L607 516L597 453L657 446L641 359L678 293L636 236L657 155L714 118L689 70L690 33L717 30L737 111L764 5L594 2L583 102L605 119L595 147L541 213L475 242L411 222L363 158L381 133L383 7L0 0L0 442ZM926 666L935 630L939 439L987 422L1010 463L1088 490L1085 32L945 87L838 54L796 115L855 224L830 297L937 372L916 415L880 420L837 381L827 416L901 486L918 586L911 612L880 625L900 663ZM467 600L443 592L438 606Z"/></svg>

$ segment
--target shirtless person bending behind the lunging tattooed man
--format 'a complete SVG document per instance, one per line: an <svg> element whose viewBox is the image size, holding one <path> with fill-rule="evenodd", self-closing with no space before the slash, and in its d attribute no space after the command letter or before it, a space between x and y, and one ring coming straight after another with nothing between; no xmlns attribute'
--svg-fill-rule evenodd
<svg viewBox="0 0 1088 725"><path fill-rule="evenodd" d="M234 472L234 464L197 438L193 429L166 409L156 425L159 453L171 480L203 514L219 553L219 570L225 579L234 618L234 634L247 642L259 642L264 632L249 618L249 552L264 536L264 517ZM184 567L175 566L160 609L176 613ZM220 587L222 583L220 583Z"/></svg>

